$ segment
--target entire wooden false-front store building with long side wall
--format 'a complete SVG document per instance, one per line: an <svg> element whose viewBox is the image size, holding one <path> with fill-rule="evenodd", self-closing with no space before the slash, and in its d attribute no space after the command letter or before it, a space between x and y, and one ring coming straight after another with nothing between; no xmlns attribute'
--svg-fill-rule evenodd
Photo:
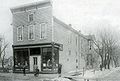
<svg viewBox="0 0 120 81"><path fill-rule="evenodd" d="M85 67L88 39L53 16L49 0L11 8L14 72L62 73ZM82 46L83 45L83 46ZM83 56L82 56L83 55Z"/></svg>

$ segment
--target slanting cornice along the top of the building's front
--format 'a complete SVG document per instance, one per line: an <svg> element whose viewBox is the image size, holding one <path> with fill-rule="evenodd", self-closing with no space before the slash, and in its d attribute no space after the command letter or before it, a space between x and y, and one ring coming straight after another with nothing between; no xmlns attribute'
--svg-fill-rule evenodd
<svg viewBox="0 0 120 81"><path fill-rule="evenodd" d="M27 8L27 7L30 7L30 6L41 5L41 4L44 4L44 3L51 3L51 5L52 5L51 0L44 0L44 1L39 1L39 2L27 3L27 4L24 4L24 5L20 5L20 6L15 6L15 7L10 8L10 10L12 11L12 10L19 9L19 8Z"/></svg>

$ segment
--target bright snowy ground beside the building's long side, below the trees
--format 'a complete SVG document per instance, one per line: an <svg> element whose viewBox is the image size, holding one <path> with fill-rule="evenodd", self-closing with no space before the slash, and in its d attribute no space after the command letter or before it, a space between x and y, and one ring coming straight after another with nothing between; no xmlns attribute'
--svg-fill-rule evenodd
<svg viewBox="0 0 120 81"><path fill-rule="evenodd" d="M84 79L95 80L95 79L107 77L110 74L115 73L116 71L120 71L120 67L104 69L103 71L86 70L84 73L84 76L83 76L83 74L72 76L73 74L76 73L76 71L71 71L68 73L68 75L66 75L66 77L75 79L76 81L83 81ZM66 80L66 78L64 78L64 77L65 77L65 75L63 76L63 78L58 78L58 79L56 78L56 81L70 81L69 79Z"/></svg>

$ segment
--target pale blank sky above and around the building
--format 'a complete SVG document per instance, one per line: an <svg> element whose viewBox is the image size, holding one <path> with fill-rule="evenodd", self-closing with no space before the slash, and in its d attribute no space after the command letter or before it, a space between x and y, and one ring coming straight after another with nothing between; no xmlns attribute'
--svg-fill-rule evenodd
<svg viewBox="0 0 120 81"><path fill-rule="evenodd" d="M4 35L7 42L12 44L10 8L37 1L41 0L0 0L0 35ZM51 1L53 15L66 24L72 24L72 27L81 33L94 34L97 29L105 27L102 26L104 24L110 24L110 28L120 31L120 0ZM9 53L8 56L11 55L11 52Z"/></svg>

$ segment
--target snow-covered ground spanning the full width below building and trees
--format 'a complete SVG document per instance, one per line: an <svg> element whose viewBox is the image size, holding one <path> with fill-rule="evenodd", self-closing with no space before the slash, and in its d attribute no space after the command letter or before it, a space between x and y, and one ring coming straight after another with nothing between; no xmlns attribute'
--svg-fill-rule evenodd
<svg viewBox="0 0 120 81"><path fill-rule="evenodd" d="M66 74L62 74L61 77L56 74L40 74L38 77L34 77L33 74L27 74L23 76L23 74L14 74L14 73L0 73L0 81L84 81L84 79L89 79L89 81L95 81L96 79L100 79L100 81L106 81L108 79L114 79L111 81L120 81L120 67L111 68L110 70L106 69L103 71L94 71L94 70L86 70L83 74L82 71L70 71ZM117 80L116 80L117 79Z"/></svg>

